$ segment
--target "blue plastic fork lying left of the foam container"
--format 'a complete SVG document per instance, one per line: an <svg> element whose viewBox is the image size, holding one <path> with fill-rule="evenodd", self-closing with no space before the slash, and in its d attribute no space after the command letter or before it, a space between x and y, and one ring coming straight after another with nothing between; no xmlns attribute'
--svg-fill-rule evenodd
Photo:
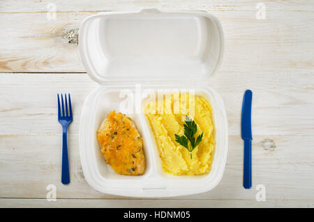
<svg viewBox="0 0 314 222"><path fill-rule="evenodd" d="M64 94L64 99L66 101L65 105L63 103L63 96L61 94L61 106L60 107L60 98L58 95L58 121L62 126L62 174L61 174L61 182L62 184L70 183L70 172L68 169L68 142L66 132L68 130L68 125L73 121L72 115L72 105L70 94L68 94L68 101L66 99L66 94ZM64 110L64 106L66 109Z"/></svg>

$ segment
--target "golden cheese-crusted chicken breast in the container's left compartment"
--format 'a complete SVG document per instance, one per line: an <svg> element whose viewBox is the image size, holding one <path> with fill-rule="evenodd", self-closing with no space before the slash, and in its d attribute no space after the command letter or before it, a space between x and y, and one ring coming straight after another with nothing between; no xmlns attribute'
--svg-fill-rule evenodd
<svg viewBox="0 0 314 222"><path fill-rule="evenodd" d="M143 142L132 119L110 112L97 131L105 161L120 175L142 175L145 170Z"/></svg>

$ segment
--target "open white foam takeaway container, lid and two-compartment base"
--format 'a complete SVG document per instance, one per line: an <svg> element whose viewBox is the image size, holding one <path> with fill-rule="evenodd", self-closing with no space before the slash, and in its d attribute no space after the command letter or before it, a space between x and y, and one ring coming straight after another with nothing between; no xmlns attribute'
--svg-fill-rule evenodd
<svg viewBox="0 0 314 222"><path fill-rule="evenodd" d="M202 82L216 73L223 57L223 31L202 11L100 13L87 17L79 34L80 57L99 83L84 102L80 121L80 158L87 182L102 193L130 197L170 197L202 193L223 177L227 158L227 117L219 94ZM133 119L143 138L146 170L141 176L115 173L100 152L96 130L109 112L121 112L127 91L195 90L211 103L216 147L211 171L173 176L162 170L158 147L141 112L144 97L133 99ZM135 96L136 97L136 96Z"/></svg>

